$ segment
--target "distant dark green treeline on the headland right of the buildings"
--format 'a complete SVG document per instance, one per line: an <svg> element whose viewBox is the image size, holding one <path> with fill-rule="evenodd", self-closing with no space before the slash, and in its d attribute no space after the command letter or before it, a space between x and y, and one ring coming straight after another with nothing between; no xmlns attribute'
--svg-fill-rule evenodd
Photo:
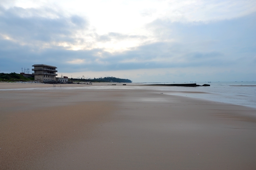
<svg viewBox="0 0 256 170"><path fill-rule="evenodd" d="M129 79L115 78L115 77L104 77L104 78L70 78L70 80L76 81L90 81L90 82L117 82L117 83L132 83Z"/></svg>

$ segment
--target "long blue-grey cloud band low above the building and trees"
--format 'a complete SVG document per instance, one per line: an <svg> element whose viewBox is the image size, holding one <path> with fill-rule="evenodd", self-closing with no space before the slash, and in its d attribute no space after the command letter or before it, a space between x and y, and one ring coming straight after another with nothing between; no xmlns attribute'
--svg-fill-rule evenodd
<svg viewBox="0 0 256 170"><path fill-rule="evenodd" d="M4 45L5 44L5 45ZM171 54L172 49L161 53L163 48L170 46L168 43L157 43L141 46L137 50L127 51L125 53L111 54L104 52L102 49L92 50L66 50L64 48L48 48L41 51L31 50L28 46L20 46L19 44L8 44L0 41L1 59L0 66L9 65L19 68L25 64L28 66L35 63L47 63L56 65L59 70L64 72L79 71L107 71L107 70L132 70L132 69L153 69L153 68L177 68L177 67L197 67L197 66L228 66L229 62L216 59L215 56L223 56L217 52L212 53L188 53L188 54ZM12 48L6 48L12 47ZM154 50L151 50L154 47ZM152 53L152 51L154 53ZM99 57L98 52L104 57ZM183 58L185 61L176 59ZM70 64L67 61L73 59L84 59L85 63ZM157 61L157 59L174 58L170 61ZM135 59L137 62L123 62L125 60ZM98 62L100 61L100 63ZM12 64L11 64L12 63ZM102 64L104 63L104 64ZM28 67L26 66L26 67ZM23 66L25 67L25 66Z"/></svg>

